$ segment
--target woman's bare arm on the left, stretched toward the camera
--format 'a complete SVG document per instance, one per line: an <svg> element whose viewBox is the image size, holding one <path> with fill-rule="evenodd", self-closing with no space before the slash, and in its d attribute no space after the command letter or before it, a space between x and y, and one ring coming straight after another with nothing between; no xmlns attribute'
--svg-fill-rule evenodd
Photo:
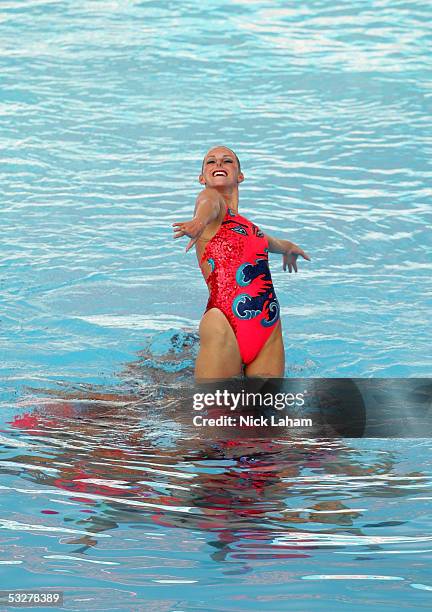
<svg viewBox="0 0 432 612"><path fill-rule="evenodd" d="M189 251L203 233L206 225L218 218L221 210L221 196L216 189L203 189L196 199L194 217L191 221L173 223L174 238L189 236L186 247Z"/></svg>

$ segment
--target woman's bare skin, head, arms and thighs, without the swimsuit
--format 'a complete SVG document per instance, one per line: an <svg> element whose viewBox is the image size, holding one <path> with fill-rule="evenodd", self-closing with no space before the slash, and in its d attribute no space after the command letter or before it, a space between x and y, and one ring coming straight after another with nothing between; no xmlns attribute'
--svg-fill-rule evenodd
<svg viewBox="0 0 432 612"><path fill-rule="evenodd" d="M207 262L201 265L201 257L207 243L220 228L226 208L238 212L238 186L244 180L237 159L226 147L210 149L203 161L199 182L205 187L197 198L194 218L174 223L174 238L189 236L188 251L195 245L198 265L204 279L210 274ZM309 259L297 245L268 237L271 252L283 255L284 270L297 272L298 255ZM286 245L282 245L282 242ZM273 248L272 248L273 247ZM285 248L286 247L286 248ZM289 248L291 247L291 248ZM292 248L295 247L295 248ZM285 371L285 351L282 325L279 321L258 356L243 366L234 331L228 319L218 308L211 308L202 317L200 327L200 351L195 364L195 378L231 378L240 376L282 377Z"/></svg>

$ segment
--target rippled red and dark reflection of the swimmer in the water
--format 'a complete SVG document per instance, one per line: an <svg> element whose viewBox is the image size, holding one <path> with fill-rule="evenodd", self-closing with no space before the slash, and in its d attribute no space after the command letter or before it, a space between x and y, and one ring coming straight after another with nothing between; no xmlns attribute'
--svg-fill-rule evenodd
<svg viewBox="0 0 432 612"><path fill-rule="evenodd" d="M291 439L280 429L277 439L258 429L237 430L235 439L214 429L202 439L190 407L163 388L159 400L151 386L141 394L50 392L10 423L32 442L31 453L18 449L10 460L11 473L82 506L64 517L86 532L66 541L74 553L123 525L211 532L218 562L307 558L351 544L377 550L359 497L412 495L422 477L392 476L392 453L364 462L341 440Z"/></svg>

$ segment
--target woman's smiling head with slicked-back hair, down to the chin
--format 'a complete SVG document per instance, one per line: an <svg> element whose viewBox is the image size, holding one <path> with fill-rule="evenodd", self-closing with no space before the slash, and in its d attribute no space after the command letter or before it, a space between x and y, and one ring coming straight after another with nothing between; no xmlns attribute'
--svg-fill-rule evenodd
<svg viewBox="0 0 432 612"><path fill-rule="evenodd" d="M201 185L207 187L233 187L244 181L234 153L226 147L210 149L203 161L199 176Z"/></svg>

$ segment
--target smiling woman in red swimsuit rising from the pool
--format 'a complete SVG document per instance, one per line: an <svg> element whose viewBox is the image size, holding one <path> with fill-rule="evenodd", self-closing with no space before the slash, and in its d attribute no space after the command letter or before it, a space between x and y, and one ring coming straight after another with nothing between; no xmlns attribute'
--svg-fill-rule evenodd
<svg viewBox="0 0 432 612"><path fill-rule="evenodd" d="M209 288L202 317L195 378L282 377L285 353L279 303L268 253L283 256L283 269L297 272L297 257L309 256L288 240L272 238L238 212L244 180L237 155L214 147L204 157L191 221L173 223L174 238L188 236Z"/></svg>

